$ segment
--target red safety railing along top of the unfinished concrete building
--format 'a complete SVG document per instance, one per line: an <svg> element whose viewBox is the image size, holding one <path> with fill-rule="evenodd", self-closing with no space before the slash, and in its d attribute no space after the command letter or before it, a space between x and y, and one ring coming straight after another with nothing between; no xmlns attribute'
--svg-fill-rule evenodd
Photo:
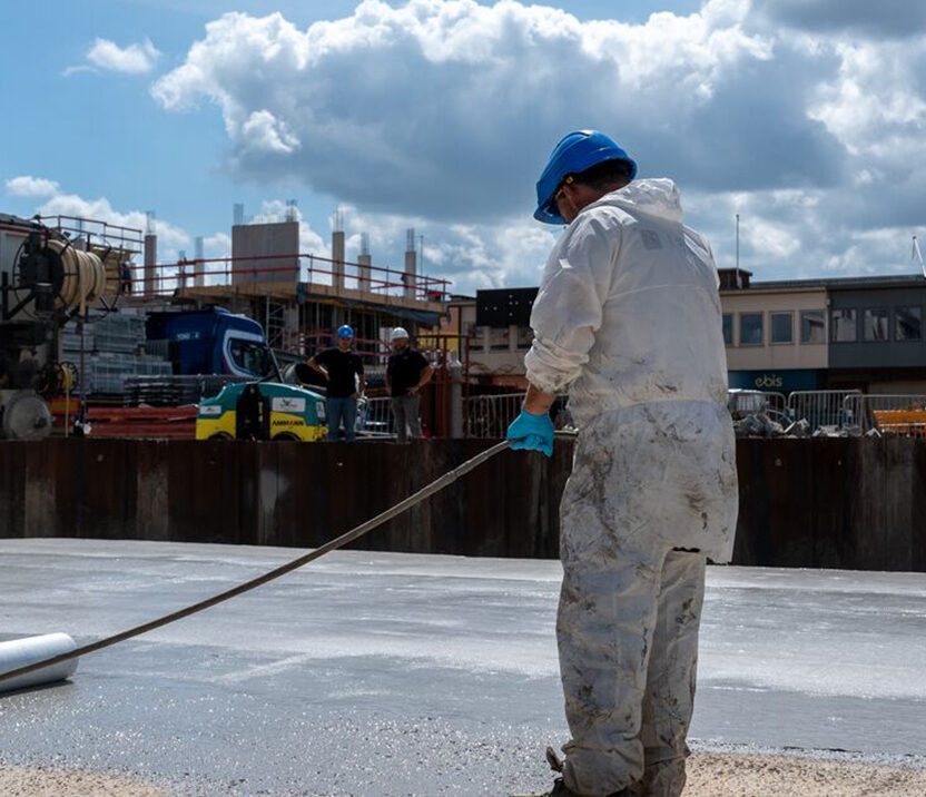
<svg viewBox="0 0 926 797"><path fill-rule="evenodd" d="M185 259L147 267L134 264L131 276L124 275L121 282L125 292L164 296L197 286L290 282L287 277L292 277L293 283L308 283L309 286L339 286L424 302L442 302L450 294L449 279L303 254Z"/></svg>

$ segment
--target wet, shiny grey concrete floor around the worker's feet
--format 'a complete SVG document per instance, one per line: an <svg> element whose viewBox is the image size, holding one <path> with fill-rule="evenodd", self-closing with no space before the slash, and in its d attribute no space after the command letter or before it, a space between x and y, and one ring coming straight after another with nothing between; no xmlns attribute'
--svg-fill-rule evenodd
<svg viewBox="0 0 926 797"><path fill-rule="evenodd" d="M0 639L128 628L297 555L0 541ZM502 795L565 740L558 562L335 552L0 697L0 764L180 791ZM926 756L926 575L711 568L696 747Z"/></svg>

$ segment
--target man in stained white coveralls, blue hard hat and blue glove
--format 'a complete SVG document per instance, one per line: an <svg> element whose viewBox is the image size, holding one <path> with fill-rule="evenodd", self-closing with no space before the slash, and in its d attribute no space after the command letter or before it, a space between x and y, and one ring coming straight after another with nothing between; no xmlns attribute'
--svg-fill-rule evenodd
<svg viewBox="0 0 926 797"><path fill-rule="evenodd" d="M717 268L676 185L636 175L617 142L580 130L536 185L534 217L569 226L508 437L552 455L548 411L569 391L556 637L572 739L562 760L548 750L556 797L681 794L705 564L730 560L736 530Z"/></svg>

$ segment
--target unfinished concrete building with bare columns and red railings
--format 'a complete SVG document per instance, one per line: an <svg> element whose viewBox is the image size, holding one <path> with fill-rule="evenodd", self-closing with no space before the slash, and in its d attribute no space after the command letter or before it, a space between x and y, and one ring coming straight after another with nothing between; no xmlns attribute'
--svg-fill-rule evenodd
<svg viewBox="0 0 926 797"><path fill-rule="evenodd" d="M263 324L284 363L327 346L341 324L354 327L358 351L374 367L384 362L392 327L404 326L413 337L439 329L449 283L418 272L413 229L400 270L373 264L366 236L356 262L346 260L338 215L331 257L299 250L295 213L257 224L240 216L232 227L230 257L204 258L197 252L193 259L158 264L157 237L149 229L144 270L134 275L129 302L215 304L245 314Z"/></svg>

